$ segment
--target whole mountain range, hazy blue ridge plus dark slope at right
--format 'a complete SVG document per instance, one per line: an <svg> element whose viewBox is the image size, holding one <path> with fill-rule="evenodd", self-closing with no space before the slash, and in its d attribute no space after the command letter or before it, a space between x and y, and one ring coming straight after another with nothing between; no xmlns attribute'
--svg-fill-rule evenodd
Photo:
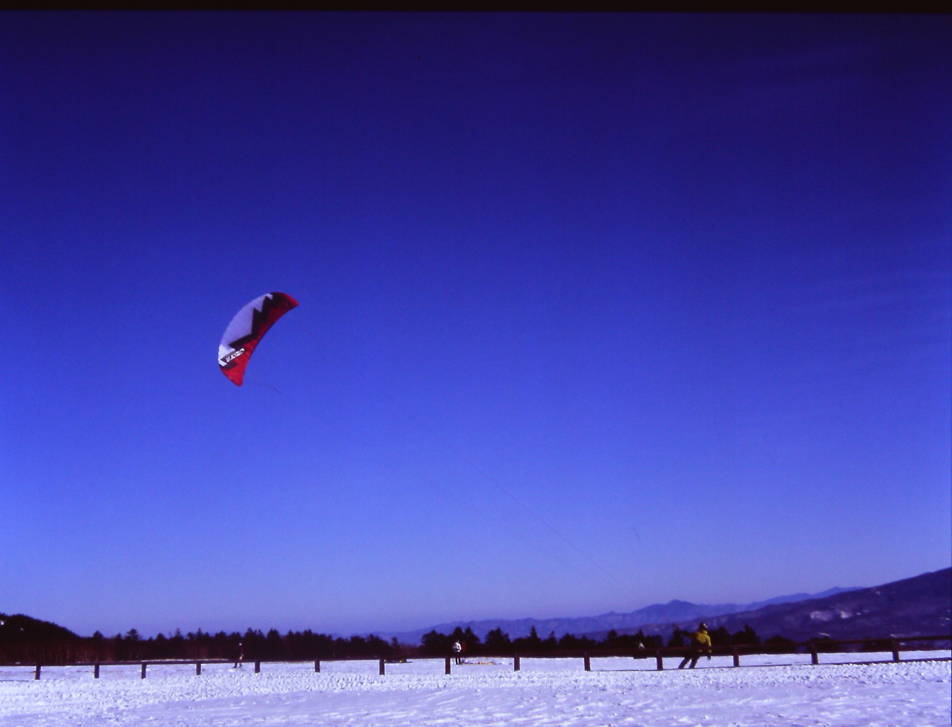
<svg viewBox="0 0 952 727"><path fill-rule="evenodd" d="M754 603L690 603L670 600L628 613L561 619L486 619L450 621L415 631L380 634L402 643L419 643L430 631L452 633L469 628L480 639L494 629L510 638L527 636L535 627L545 639L550 633L604 639L608 631L662 634L695 628L699 619L734 633L749 624L762 638L781 635L803 640L827 634L834 639L881 637L888 634L932 636L948 633L952 616L952 568L872 588L831 588L817 594L792 594Z"/></svg>

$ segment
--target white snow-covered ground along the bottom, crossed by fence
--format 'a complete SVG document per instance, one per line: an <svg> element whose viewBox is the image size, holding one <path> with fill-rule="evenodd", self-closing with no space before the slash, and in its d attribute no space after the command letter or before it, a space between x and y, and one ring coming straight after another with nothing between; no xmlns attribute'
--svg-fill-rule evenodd
<svg viewBox="0 0 952 727"><path fill-rule="evenodd" d="M931 727L952 723L949 661L847 664L860 655L702 660L694 671L676 659L523 658L454 666L442 659L264 663L231 669L206 664L0 667L0 727L231 727L254 725L630 725L631 727ZM948 657L948 652L903 658ZM890 658L889 654L862 655ZM830 663L825 663L830 662ZM764 668L764 664L781 664Z"/></svg>

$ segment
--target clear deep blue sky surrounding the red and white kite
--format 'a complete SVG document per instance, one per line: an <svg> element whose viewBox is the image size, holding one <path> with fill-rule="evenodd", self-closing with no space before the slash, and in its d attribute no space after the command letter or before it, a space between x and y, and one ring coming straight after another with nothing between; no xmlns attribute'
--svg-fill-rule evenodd
<svg viewBox="0 0 952 727"><path fill-rule="evenodd" d="M949 16L5 13L0 99L0 611L348 634L952 559Z"/></svg>

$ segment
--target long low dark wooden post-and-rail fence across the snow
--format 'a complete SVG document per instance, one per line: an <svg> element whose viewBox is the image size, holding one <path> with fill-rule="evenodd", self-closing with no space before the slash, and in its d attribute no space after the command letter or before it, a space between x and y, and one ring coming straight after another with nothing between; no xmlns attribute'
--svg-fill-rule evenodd
<svg viewBox="0 0 952 727"><path fill-rule="evenodd" d="M881 639L813 639L810 641L803 641L800 643L785 643L785 644L743 644L743 645L732 645L732 646L714 646L711 649L712 655L715 656L730 656L733 658L733 666L740 667L741 657L742 656L752 656L752 655L763 655L763 654L809 654L811 664L820 664L820 656L825 654L856 654L857 656L865 654L871 654L871 649L875 649L877 652L890 652L892 658L890 661L897 662L902 661L902 652L904 651L929 651L929 649L912 649L908 648L910 643L914 642L939 642L940 644L949 642L952 643L952 635L943 634L940 636L928 636L928 637L884 637ZM842 646L855 646L861 645L861 647L866 647L860 651L836 651L833 647L842 647ZM944 651L942 646L934 646L933 650ZM610 657L625 657L625 658L651 658L654 657L656 661L656 666L658 671L664 671L664 658L665 657L684 657L688 652L693 654L693 650L689 647L665 647L661 649L589 649L586 651L553 651L553 652L534 652L534 653L499 653L499 654L481 654L480 658L511 658L513 671L520 671L522 669L522 659L523 658L579 658L582 660L583 668L586 672L591 671L591 659L592 658L610 658ZM422 660L444 660L444 670L445 673L452 673L452 662L456 659L456 655L452 657L438 657L438 656L421 656L414 657L415 661ZM248 659L248 663L253 661L254 663L254 672L258 674L261 672L261 665L267 663L309 663L313 661L314 672L320 673L321 671L321 661L367 661L367 658L323 658L323 659ZM408 660L408 659L402 659ZM913 659L913 660L923 660ZM925 660L930 661L950 661L952 657L929 657ZM380 675L384 676L387 673L387 663L393 663L394 659L379 658L379 671ZM42 662L23 662L23 661L12 661L12 662L0 662L0 667L11 667L11 666L24 666L33 669L33 678L38 679L42 673L43 667L57 667L57 666L86 666L92 667L92 676L93 678L99 678L100 667L103 666L140 666L141 667L141 678L146 678L148 673L149 666L165 666L165 665L184 665L184 664L194 664L195 665L195 675L199 676L202 674L202 666L206 664L235 664L236 662L233 658L200 658L200 659L149 659L149 660L133 660L133 661L72 661L72 662L58 662L58 663L42 663ZM844 663L843 661L838 661L836 663ZM873 663L889 663L889 661L884 661L883 659L865 659L851 661L847 663L863 663L863 664L873 664Z"/></svg>

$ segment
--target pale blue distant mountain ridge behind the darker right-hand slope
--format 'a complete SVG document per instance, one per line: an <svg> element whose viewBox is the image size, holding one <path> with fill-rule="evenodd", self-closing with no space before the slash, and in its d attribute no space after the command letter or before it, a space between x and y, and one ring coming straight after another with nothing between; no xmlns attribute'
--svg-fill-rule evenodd
<svg viewBox="0 0 952 727"><path fill-rule="evenodd" d="M689 619L711 619L715 616L726 614L742 613L756 611L766 606L796 602L807 599L823 599L838 594L849 593L860 590L861 587L853 588L830 588L823 593L817 594L791 594L789 596L778 596L773 599L755 601L753 603L691 603L686 600L669 600L667 603L654 603L644 608L628 613L609 612L600 616L590 617L565 617L555 619L483 619L470 621L449 621L435 626L429 626L415 631L404 631L394 633L374 632L382 639L393 639L402 643L416 644L424 634L430 631L436 631L441 634L449 634L457 626L466 630L472 629L472 632L480 639L486 639L486 634L494 629L501 629L512 639L525 637L529 630L534 626L536 633L545 639L549 634L554 633L556 638L561 638L565 634L574 636L583 636L591 634L606 634L608 631L615 630L620 634L634 633L646 624L664 624L667 631L670 631L670 624ZM660 633L659 631L645 633Z"/></svg>

